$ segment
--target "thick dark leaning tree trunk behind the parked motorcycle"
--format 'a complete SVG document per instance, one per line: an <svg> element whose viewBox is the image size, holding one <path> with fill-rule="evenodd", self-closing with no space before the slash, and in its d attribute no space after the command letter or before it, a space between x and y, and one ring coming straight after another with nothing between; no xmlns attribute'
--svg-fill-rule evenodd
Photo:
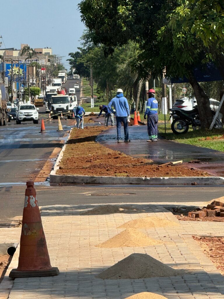
<svg viewBox="0 0 224 299"><path fill-rule="evenodd" d="M201 128L209 129L212 122L212 113L209 98L196 80L190 80L190 84L194 89L194 94L197 100L197 108L201 121Z"/></svg>

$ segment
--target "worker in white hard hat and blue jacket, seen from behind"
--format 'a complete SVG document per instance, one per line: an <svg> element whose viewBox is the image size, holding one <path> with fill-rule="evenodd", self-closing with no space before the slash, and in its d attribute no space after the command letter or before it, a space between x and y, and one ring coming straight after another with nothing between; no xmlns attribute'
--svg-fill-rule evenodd
<svg viewBox="0 0 224 299"><path fill-rule="evenodd" d="M114 107L115 111L111 108ZM116 97L114 97L110 103L108 104L108 108L110 111L116 116L116 124L117 124L117 142L123 142L121 139L121 124L124 124L125 131L125 142L130 142L131 140L128 138L128 116L130 116L130 109L128 106L128 101L126 97L123 95L123 90L118 89Z"/></svg>

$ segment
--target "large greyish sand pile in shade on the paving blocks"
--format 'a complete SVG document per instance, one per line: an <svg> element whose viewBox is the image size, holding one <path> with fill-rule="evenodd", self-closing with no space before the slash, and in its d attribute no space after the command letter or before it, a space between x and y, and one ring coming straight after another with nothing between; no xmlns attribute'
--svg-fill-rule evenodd
<svg viewBox="0 0 224 299"><path fill-rule="evenodd" d="M96 277L101 279L138 279L177 276L185 273L187 272L184 270L172 269L148 254L133 253Z"/></svg>

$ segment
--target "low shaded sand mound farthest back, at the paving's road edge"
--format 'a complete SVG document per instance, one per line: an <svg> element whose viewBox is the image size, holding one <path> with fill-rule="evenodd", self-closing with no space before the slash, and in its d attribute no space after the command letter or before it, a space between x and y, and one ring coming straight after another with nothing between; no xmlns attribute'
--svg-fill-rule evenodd
<svg viewBox="0 0 224 299"><path fill-rule="evenodd" d="M98 208L85 211L81 215L104 215L113 213L138 213L145 212L145 210L139 210L136 207L130 205L102 205Z"/></svg>

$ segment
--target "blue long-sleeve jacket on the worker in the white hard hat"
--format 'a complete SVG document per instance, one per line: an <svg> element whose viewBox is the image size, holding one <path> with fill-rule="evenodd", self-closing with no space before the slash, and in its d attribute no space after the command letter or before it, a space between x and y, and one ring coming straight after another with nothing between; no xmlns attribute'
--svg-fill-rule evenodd
<svg viewBox="0 0 224 299"><path fill-rule="evenodd" d="M113 109L111 109L111 106L114 107L116 110L115 116L128 116L130 115L130 110L128 106L128 100L126 97L123 96L123 94L118 94L116 97L114 97L110 103L108 104L108 108L112 113L114 113Z"/></svg>

